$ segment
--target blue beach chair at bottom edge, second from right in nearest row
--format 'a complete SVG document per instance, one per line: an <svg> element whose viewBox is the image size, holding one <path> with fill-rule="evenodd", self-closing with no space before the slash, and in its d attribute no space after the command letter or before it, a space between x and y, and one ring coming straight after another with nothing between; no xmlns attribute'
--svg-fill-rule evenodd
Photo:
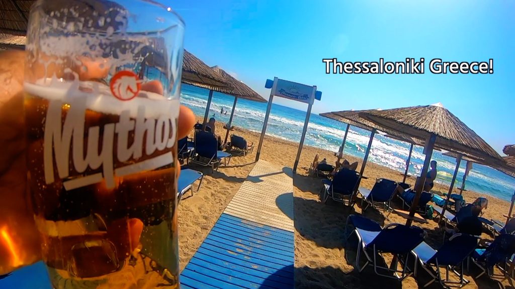
<svg viewBox="0 0 515 289"><path fill-rule="evenodd" d="M462 287L469 283L463 276L464 263L467 257L474 251L477 246L478 239L474 236L466 234L454 234L449 240L443 243L442 247L437 251L425 242L420 243L413 249L415 256L415 277L417 277L417 263L431 276L431 281L424 284L424 288L435 281L447 288L450 286ZM418 261L418 262L417 262ZM458 273L455 267L460 266ZM445 279L442 279L440 267L445 267ZM435 273L436 272L436 273ZM449 280L449 272L459 277L459 282Z"/></svg>

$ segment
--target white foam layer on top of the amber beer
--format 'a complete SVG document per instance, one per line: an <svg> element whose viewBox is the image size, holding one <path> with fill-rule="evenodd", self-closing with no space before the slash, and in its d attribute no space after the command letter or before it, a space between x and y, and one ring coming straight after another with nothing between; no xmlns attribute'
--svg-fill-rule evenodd
<svg viewBox="0 0 515 289"><path fill-rule="evenodd" d="M162 115L178 117L179 98L167 99L151 92L140 92L138 97L131 100L115 98L109 87L93 81L63 82L59 79L40 79L36 83L24 83L24 90L32 96L47 100L61 100L67 103L76 98L87 98L86 107L98 113L120 115L129 111L135 118L138 107L145 107L145 118L159 118Z"/></svg>

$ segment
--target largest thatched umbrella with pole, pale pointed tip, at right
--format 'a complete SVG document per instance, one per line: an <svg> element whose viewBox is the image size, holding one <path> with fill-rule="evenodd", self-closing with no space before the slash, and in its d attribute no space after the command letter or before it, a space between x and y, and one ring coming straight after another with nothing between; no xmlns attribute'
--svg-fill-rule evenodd
<svg viewBox="0 0 515 289"><path fill-rule="evenodd" d="M410 209L410 218L408 218L406 223L408 225L411 224L411 219L415 215L415 208L418 205L423 190L435 143L442 149L458 153L468 153L471 156L484 158L492 163L501 161L501 156L485 140L446 110L440 103L383 111L367 111L360 113L359 116L370 120L381 128L402 132L411 137L426 140L424 148L425 160L420 175L420 185L415 188L416 196L414 204ZM461 158L459 157L457 160L458 166L460 160ZM449 196L447 196L443 211L447 207Z"/></svg>

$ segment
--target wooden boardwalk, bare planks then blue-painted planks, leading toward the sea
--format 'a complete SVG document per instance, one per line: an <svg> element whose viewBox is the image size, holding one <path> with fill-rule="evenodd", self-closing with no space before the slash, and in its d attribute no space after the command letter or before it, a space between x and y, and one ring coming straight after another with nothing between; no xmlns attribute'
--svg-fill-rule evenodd
<svg viewBox="0 0 515 289"><path fill-rule="evenodd" d="M293 180L258 161L190 263L181 288L293 288Z"/></svg>

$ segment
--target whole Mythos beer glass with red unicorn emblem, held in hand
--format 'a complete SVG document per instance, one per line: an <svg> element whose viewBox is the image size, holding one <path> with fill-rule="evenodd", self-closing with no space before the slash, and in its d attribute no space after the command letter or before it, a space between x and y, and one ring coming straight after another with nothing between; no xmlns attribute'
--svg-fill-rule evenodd
<svg viewBox="0 0 515 289"><path fill-rule="evenodd" d="M28 183L55 288L179 288L183 31L150 0L32 7Z"/></svg>

